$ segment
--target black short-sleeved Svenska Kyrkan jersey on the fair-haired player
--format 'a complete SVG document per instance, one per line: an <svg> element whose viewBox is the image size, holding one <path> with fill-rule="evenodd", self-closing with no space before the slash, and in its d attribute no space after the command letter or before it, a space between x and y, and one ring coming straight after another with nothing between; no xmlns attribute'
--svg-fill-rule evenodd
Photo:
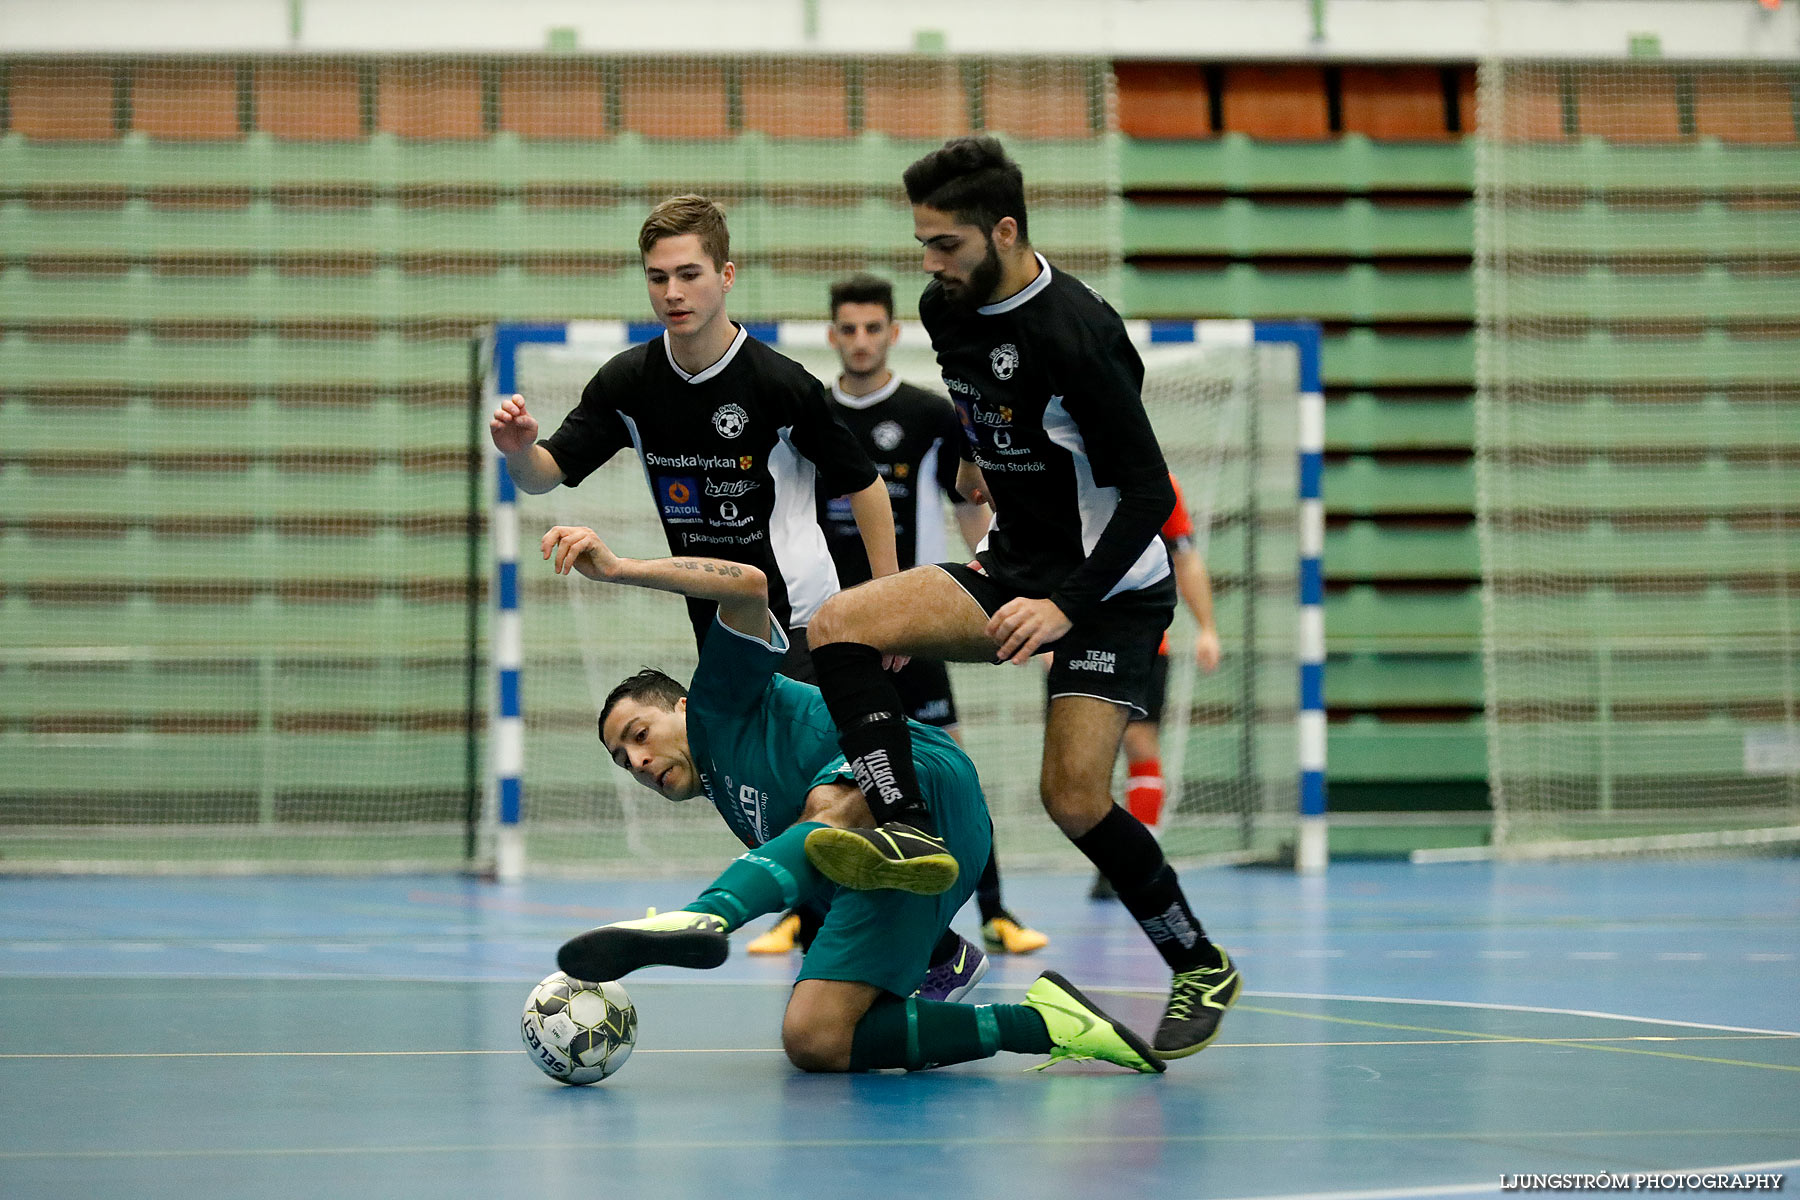
<svg viewBox="0 0 1800 1200"><path fill-rule="evenodd" d="M666 333L614 354L540 444L571 488L635 448L670 552L761 569L769 608L787 628L806 624L837 592L815 486L850 493L875 482L824 385L742 326L698 374L675 363ZM689 601L688 615L704 639L713 604Z"/></svg>

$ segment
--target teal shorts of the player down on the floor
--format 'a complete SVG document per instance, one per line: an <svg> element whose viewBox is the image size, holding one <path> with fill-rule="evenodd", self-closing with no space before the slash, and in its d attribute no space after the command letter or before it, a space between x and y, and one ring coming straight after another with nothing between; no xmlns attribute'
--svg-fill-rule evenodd
<svg viewBox="0 0 1800 1200"><path fill-rule="evenodd" d="M956 883L940 896L837 889L799 979L873 984L909 997L923 982L931 950L950 928L950 918L974 896L994 849L994 822L976 765L949 734L923 725L913 725L913 763L925 808L956 856Z"/></svg>

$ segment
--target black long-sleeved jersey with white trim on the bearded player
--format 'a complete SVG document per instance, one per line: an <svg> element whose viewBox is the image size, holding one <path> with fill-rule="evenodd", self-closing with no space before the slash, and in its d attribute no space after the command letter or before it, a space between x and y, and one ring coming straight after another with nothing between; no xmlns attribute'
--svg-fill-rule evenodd
<svg viewBox="0 0 1800 1200"><path fill-rule="evenodd" d="M1168 576L1156 536L1175 506L1143 410L1143 360L1125 322L1037 255L1017 295L974 311L938 282L918 313L963 425L963 457L994 500L983 563L1073 621Z"/></svg>

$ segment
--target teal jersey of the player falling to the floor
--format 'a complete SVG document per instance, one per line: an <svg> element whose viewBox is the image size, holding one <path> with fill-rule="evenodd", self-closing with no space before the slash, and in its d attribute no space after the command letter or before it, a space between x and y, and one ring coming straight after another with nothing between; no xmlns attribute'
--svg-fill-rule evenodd
<svg viewBox="0 0 1800 1200"><path fill-rule="evenodd" d="M776 675L787 633L769 640L713 617L688 685L688 748L700 786L745 846L761 846L806 808L821 783L855 775L817 687Z"/></svg>

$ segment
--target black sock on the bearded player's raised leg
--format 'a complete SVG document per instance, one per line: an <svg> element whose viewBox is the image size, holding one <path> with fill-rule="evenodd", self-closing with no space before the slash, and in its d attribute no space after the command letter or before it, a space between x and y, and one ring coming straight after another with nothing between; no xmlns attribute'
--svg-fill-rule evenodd
<svg viewBox="0 0 1800 1200"><path fill-rule="evenodd" d="M905 820L934 833L913 770L913 734L882 651L862 642L832 642L812 651L819 691L837 725L837 745L857 775L875 824Z"/></svg>

